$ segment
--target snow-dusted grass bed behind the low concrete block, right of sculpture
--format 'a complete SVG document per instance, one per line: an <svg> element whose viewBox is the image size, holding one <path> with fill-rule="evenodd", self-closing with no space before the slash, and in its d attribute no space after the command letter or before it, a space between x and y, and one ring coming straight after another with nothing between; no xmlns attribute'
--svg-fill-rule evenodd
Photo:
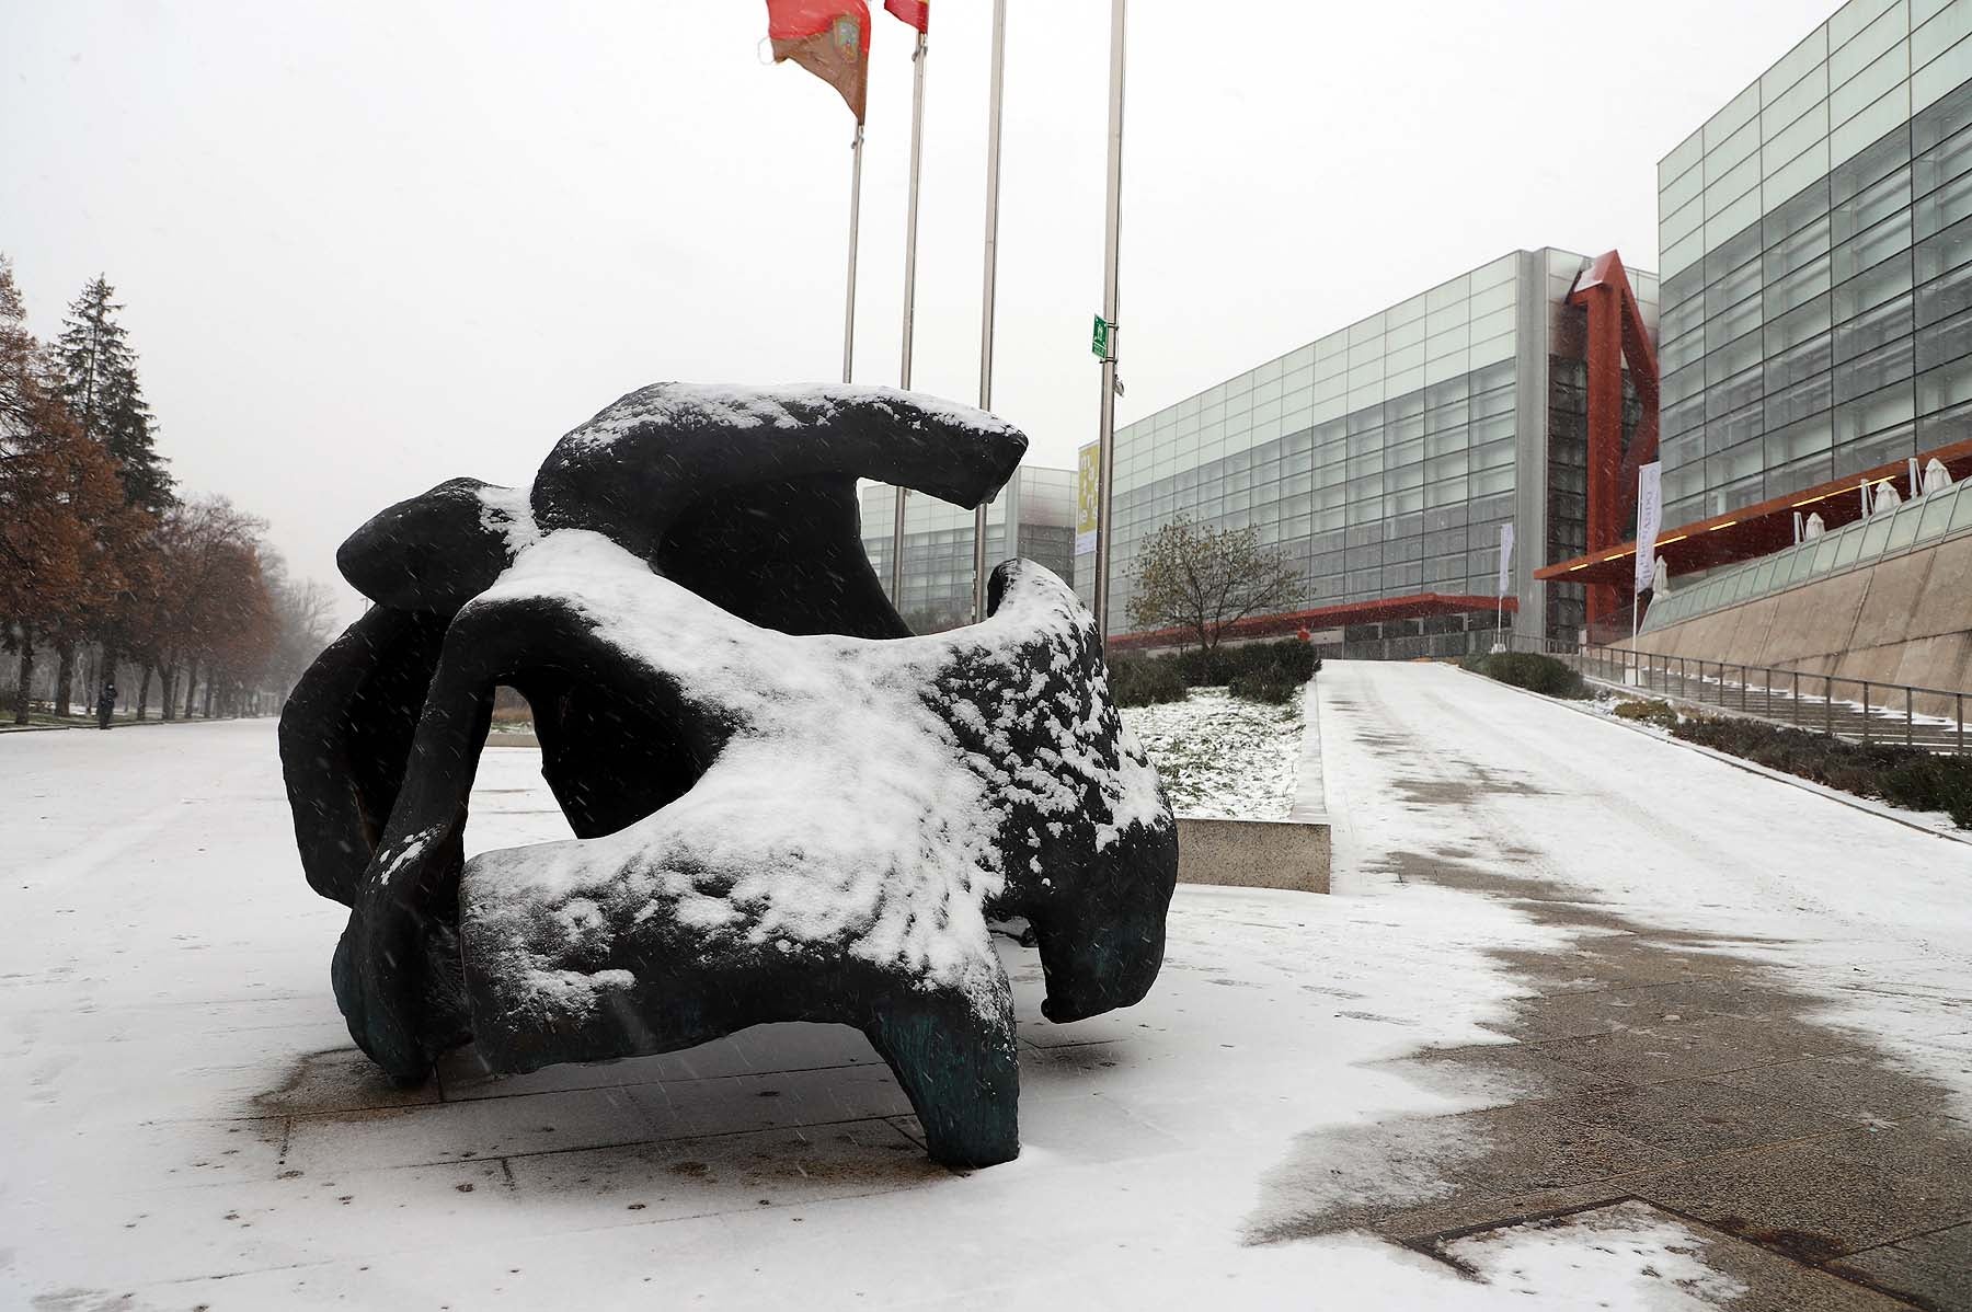
<svg viewBox="0 0 1972 1312"><path fill-rule="evenodd" d="M1242 701L1225 688L1193 688L1183 701L1124 707L1171 810L1213 820L1286 820L1302 753L1302 699Z"/></svg>

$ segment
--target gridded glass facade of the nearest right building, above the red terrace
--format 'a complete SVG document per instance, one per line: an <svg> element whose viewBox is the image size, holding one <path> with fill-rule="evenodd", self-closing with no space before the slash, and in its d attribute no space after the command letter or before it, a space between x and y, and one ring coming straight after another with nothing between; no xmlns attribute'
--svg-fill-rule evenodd
<svg viewBox="0 0 1972 1312"><path fill-rule="evenodd" d="M1658 164L1664 524L1972 437L1972 0L1850 0Z"/></svg>

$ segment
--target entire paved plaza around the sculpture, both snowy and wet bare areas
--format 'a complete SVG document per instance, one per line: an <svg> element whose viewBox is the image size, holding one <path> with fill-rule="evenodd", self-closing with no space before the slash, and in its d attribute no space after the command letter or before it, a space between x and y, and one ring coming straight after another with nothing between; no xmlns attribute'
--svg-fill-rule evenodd
<svg viewBox="0 0 1972 1312"><path fill-rule="evenodd" d="M392 1089L272 723L0 741L0 1306L1972 1306L1972 845L1445 666L1317 719L1335 892L1069 1026L1006 944L970 1174L834 1026ZM489 751L467 849L564 833Z"/></svg>

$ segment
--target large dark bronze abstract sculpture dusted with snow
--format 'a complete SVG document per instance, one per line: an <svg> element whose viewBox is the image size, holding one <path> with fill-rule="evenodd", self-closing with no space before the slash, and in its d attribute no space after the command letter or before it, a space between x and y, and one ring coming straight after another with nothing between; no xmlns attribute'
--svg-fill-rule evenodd
<svg viewBox="0 0 1972 1312"><path fill-rule="evenodd" d="M862 1028L931 1154L1018 1154L1014 1007L990 918L1033 928L1051 1020L1128 1007L1163 959L1177 837L1094 623L1008 561L988 619L909 636L856 479L974 506L1025 437L887 388L657 384L528 491L469 479L339 554L377 605L282 713L310 885L351 906L335 995L392 1078ZM463 859L493 689L534 709L576 837Z"/></svg>

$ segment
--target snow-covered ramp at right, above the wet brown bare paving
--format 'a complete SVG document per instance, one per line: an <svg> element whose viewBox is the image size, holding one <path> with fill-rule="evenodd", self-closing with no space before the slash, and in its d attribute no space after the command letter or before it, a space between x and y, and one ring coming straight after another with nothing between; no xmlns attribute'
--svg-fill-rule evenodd
<svg viewBox="0 0 1972 1312"><path fill-rule="evenodd" d="M1339 892L1453 847L1716 936L1972 1119L1972 845L1451 666L1341 662L1321 695Z"/></svg>

